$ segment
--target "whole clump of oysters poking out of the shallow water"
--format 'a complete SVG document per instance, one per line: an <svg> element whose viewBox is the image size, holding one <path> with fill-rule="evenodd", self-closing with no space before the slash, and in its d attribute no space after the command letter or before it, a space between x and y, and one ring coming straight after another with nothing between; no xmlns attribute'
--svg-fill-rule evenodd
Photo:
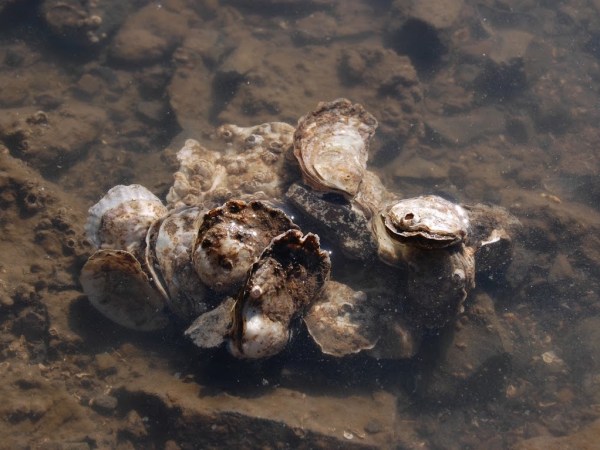
<svg viewBox="0 0 600 450"><path fill-rule="evenodd" d="M325 354L412 357L461 311L476 262L489 271L510 256L516 222L388 191L367 166L376 128L338 99L296 128L223 126L219 151L188 140L167 205L131 185L90 208L90 302L135 330L183 324L199 347L240 358L281 352L302 322Z"/></svg>

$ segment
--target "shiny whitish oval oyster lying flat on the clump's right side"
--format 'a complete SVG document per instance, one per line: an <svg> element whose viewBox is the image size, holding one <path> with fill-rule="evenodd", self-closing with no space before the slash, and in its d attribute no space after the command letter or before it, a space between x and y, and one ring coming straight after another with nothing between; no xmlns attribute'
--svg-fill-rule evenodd
<svg viewBox="0 0 600 450"><path fill-rule="evenodd" d="M469 231L467 212L435 195L400 200L381 214L381 220L392 239L422 248L457 244Z"/></svg>

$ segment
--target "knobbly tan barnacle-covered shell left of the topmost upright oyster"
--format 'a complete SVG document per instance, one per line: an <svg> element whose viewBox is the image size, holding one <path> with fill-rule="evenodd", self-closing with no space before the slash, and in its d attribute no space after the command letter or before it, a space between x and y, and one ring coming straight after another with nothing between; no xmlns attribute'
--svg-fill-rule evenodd
<svg viewBox="0 0 600 450"><path fill-rule="evenodd" d="M287 164L293 133L294 127L283 122L223 125L217 130L220 143L214 142L219 151L187 140L177 153L180 166L167 195L169 207L281 198L292 176Z"/></svg>

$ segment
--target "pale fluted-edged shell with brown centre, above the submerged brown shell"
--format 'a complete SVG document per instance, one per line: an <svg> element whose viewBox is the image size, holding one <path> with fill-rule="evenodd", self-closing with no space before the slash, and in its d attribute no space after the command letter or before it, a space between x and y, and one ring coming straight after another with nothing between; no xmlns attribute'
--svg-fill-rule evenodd
<svg viewBox="0 0 600 450"><path fill-rule="evenodd" d="M160 199L145 187L118 185L89 209L85 231L96 248L135 252L150 224L166 213Z"/></svg>

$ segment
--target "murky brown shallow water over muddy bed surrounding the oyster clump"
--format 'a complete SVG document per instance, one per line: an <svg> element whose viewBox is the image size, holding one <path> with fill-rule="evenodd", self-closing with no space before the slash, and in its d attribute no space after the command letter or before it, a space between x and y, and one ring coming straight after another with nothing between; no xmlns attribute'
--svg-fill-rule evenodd
<svg viewBox="0 0 600 450"><path fill-rule="evenodd" d="M599 30L578 0L0 0L0 448L600 448ZM522 223L416 357L300 329L247 363L90 306L109 188L164 198L186 138L338 97L388 189Z"/></svg>

